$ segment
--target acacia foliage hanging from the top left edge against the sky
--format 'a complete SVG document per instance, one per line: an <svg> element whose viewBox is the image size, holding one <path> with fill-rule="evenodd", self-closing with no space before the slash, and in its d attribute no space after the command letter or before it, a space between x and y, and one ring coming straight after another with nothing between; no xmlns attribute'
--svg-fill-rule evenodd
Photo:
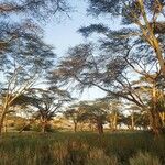
<svg viewBox="0 0 165 165"><path fill-rule="evenodd" d="M24 14L31 18L47 18L50 14L55 14L56 12L66 12L68 10L66 0L2 0L0 2L0 14L11 15L11 14Z"/></svg>

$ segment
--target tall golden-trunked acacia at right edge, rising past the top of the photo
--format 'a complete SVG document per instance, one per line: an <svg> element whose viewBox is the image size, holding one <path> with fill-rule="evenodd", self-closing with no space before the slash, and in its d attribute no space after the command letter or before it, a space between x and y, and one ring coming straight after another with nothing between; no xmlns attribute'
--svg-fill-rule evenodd
<svg viewBox="0 0 165 165"><path fill-rule="evenodd" d="M92 32L102 33L107 40L102 40L103 46L111 53L128 51L125 61L129 66L148 84L152 84L152 106L150 107L153 130L162 132L162 122L157 105L157 81L165 80L164 63L164 0L135 0L135 1L107 1L89 0L88 11L94 15L110 14L121 18L124 25L119 31L111 31L103 25L92 24L79 31L88 36ZM116 48L114 48L116 46ZM150 64L150 65L148 65Z"/></svg>

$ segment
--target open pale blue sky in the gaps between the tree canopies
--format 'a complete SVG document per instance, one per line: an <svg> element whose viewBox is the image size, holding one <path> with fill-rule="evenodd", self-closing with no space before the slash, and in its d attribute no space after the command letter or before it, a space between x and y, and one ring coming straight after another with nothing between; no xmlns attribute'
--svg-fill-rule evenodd
<svg viewBox="0 0 165 165"><path fill-rule="evenodd" d="M62 18L62 21L51 21L45 30L45 42L55 47L55 53L58 57L64 56L70 46L75 46L79 43L86 42L81 34L77 33L77 30L81 26L87 26L91 23L106 23L112 29L117 29L118 22L112 21L110 18L97 18L87 16L86 9L87 3L76 0L69 0L70 4L75 7L75 12L69 13L70 18ZM116 23L114 23L116 22ZM80 99L92 100L98 97L103 97L105 92L96 88L85 90ZM78 97L78 96L77 96Z"/></svg>

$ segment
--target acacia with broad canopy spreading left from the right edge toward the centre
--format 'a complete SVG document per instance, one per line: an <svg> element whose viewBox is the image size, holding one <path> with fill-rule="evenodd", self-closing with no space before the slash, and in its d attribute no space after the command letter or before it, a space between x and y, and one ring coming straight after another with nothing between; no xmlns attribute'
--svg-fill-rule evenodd
<svg viewBox="0 0 165 165"><path fill-rule="evenodd" d="M96 86L111 96L121 97L134 102L141 109L151 112L152 129L155 133L160 133L162 132L163 125L160 117L160 108L156 106L160 100L157 95L164 95L163 89L160 90L157 88L157 81L155 84L158 75L156 74L155 77L153 74L155 70L154 64L157 61L156 58L151 59L147 57L148 53L151 53L150 51L146 52L146 55L144 53L142 56L138 56L138 52L135 52L136 54L132 52L129 54L130 63L128 61L128 53L130 51L128 52L125 48L125 40L119 41L116 37L109 38L103 44L101 42L105 53L101 52L98 55L95 54L91 44L81 44L70 48L68 56L64 57L57 70L52 73L52 81L54 81L55 77L58 77L65 84L76 84L78 89ZM135 69L134 66L136 65L141 72ZM134 74L133 78L131 74ZM142 74L143 81L140 81L139 77ZM148 89L151 89L150 92ZM146 95L148 94L150 97L146 99ZM154 101L155 106L153 108L153 105L148 106L148 101L151 100L153 102L154 99L156 101Z"/></svg>

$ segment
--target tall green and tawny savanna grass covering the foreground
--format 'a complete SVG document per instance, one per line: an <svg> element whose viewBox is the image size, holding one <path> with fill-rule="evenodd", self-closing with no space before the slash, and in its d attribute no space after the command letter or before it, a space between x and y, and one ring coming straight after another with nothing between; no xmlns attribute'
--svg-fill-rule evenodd
<svg viewBox="0 0 165 165"><path fill-rule="evenodd" d="M147 132L8 133L0 165L164 165L165 138Z"/></svg>

